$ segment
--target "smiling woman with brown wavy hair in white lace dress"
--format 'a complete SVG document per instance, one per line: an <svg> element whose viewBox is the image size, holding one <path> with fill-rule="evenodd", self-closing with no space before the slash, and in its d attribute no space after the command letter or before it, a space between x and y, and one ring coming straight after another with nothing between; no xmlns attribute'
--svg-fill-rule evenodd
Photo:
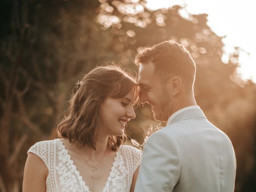
<svg viewBox="0 0 256 192"><path fill-rule="evenodd" d="M28 150L23 192L133 192L141 151L122 144L135 118L136 80L118 66L99 66L76 89L60 138Z"/></svg>

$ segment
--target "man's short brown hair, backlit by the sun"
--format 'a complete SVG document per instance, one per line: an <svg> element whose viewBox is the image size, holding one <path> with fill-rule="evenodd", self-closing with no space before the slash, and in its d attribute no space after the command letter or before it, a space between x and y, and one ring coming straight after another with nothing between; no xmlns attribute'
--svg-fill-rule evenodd
<svg viewBox="0 0 256 192"><path fill-rule="evenodd" d="M179 76L187 88L194 85L196 64L186 48L174 40L164 41L138 54L135 64L151 61L155 65L154 72L167 82L172 76Z"/></svg>

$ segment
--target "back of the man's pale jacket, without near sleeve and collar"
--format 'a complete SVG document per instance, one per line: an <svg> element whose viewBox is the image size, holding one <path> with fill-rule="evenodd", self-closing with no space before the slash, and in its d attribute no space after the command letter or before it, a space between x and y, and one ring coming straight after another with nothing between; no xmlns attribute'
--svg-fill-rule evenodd
<svg viewBox="0 0 256 192"><path fill-rule="evenodd" d="M160 130L177 148L180 176L173 191L231 192L235 158L232 144L205 118L182 120ZM168 146L166 153L168 153ZM168 165L167 165L168 166Z"/></svg>

